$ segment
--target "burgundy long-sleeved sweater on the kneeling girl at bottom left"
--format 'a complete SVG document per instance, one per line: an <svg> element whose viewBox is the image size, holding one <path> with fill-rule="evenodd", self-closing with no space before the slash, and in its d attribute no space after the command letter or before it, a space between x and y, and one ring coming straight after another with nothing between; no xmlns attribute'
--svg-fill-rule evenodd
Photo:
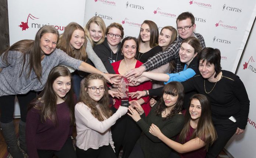
<svg viewBox="0 0 256 158"><path fill-rule="evenodd" d="M54 125L49 119L40 119L40 110L32 108L26 118L26 144L28 156L38 158L37 150L60 150L68 137L72 135L70 113L66 102L57 104L58 124Z"/></svg>

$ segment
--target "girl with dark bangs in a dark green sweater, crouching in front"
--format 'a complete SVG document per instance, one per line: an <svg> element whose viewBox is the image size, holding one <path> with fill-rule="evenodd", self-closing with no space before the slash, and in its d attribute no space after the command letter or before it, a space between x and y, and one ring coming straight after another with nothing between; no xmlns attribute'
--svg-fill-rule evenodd
<svg viewBox="0 0 256 158"><path fill-rule="evenodd" d="M129 158L167 158L174 152L162 140L151 135L149 128L151 124L155 124L166 137L175 139L184 125L184 116L181 113L184 88L179 82L170 82L164 87L162 94L162 98L152 107L147 117L140 104L132 101L131 106L136 110L130 106L131 114L128 115L141 127L143 135L135 144Z"/></svg>

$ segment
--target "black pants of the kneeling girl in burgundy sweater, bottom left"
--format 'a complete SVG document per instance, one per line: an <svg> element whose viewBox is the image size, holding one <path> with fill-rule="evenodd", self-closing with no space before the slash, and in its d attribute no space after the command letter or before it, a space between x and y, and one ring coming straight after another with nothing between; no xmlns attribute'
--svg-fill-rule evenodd
<svg viewBox="0 0 256 158"><path fill-rule="evenodd" d="M58 158L77 158L71 137L68 137L67 141L60 149L56 150L37 150L39 158L52 158L53 155L56 155Z"/></svg>

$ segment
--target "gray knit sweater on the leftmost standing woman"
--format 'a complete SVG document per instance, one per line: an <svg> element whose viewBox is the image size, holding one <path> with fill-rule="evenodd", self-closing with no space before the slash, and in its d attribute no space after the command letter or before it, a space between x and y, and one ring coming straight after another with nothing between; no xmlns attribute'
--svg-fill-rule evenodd
<svg viewBox="0 0 256 158"><path fill-rule="evenodd" d="M26 94L29 91L42 91L51 69L59 64L67 65L78 69L82 61L71 58L60 49L55 49L50 55L46 55L41 61L42 76L41 82L36 78L35 72L32 70L29 77L29 54L26 55L26 63L21 73L23 65L23 54L18 51L8 52L8 64L3 61L3 54L0 57L0 96ZM20 76L21 75L21 76Z"/></svg>

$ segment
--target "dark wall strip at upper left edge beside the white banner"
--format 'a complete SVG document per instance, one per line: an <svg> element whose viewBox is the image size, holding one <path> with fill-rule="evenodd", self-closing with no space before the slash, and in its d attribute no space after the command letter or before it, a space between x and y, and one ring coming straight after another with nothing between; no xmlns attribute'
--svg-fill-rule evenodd
<svg viewBox="0 0 256 158"><path fill-rule="evenodd" d="M7 0L0 0L0 52L10 46Z"/></svg>

